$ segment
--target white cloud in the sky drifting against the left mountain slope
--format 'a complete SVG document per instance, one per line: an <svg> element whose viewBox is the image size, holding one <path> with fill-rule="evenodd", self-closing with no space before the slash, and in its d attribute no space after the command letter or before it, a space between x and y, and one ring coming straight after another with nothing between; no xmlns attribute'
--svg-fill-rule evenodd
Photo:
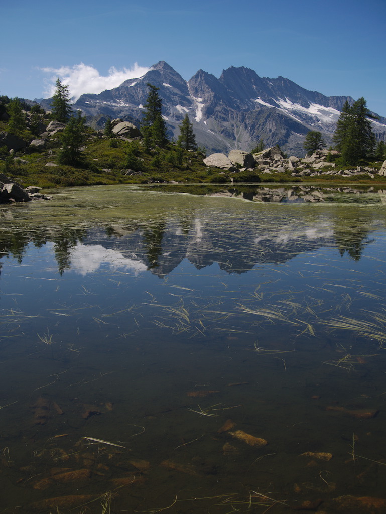
<svg viewBox="0 0 386 514"><path fill-rule="evenodd" d="M136 79L142 77L150 68L139 66L137 63L131 68L123 68L121 70L114 66L108 70L107 77L99 74L94 66L87 64L75 64L73 66L62 66L61 68L42 68L47 74L51 74L46 79L46 89L43 93L45 98L50 98L55 91L55 83L58 79L63 84L69 86L71 100L76 102L83 93L102 93L105 89L113 89L118 87L127 79Z"/></svg>

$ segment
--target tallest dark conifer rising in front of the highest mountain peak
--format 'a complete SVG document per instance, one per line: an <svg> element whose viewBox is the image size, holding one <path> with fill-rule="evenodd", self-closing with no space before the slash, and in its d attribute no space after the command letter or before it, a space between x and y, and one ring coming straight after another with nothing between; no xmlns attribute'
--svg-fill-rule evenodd
<svg viewBox="0 0 386 514"><path fill-rule="evenodd" d="M162 146L168 141L166 123L162 118L162 100L159 98L159 87L146 84L149 87L149 94L144 104L145 115L142 119L142 134L145 146Z"/></svg>

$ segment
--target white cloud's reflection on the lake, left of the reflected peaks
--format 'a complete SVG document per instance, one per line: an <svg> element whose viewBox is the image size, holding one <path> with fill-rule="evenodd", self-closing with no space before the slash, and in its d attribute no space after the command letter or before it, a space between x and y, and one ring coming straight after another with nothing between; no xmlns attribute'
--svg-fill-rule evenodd
<svg viewBox="0 0 386 514"><path fill-rule="evenodd" d="M117 250L101 245L78 245L71 253L71 268L82 275L96 271L102 264L113 269L130 269L135 273L148 269L141 261L127 259Z"/></svg>

